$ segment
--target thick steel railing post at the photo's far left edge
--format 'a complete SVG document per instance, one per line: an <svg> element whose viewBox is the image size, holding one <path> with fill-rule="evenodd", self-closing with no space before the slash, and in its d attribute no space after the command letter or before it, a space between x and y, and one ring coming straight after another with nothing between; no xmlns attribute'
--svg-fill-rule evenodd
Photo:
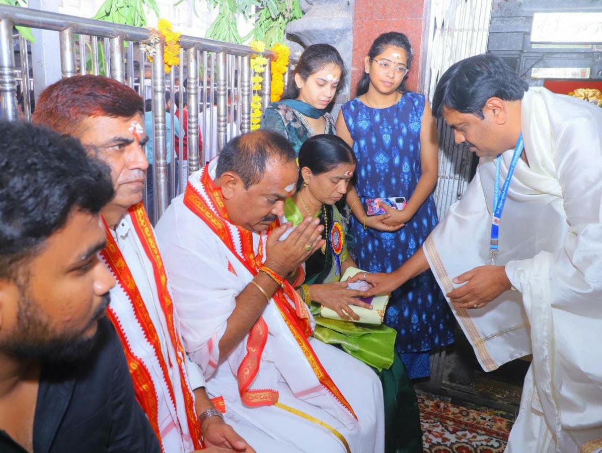
<svg viewBox="0 0 602 453"><path fill-rule="evenodd" d="M0 117L9 121L17 119L14 76L13 22L0 19Z"/></svg>

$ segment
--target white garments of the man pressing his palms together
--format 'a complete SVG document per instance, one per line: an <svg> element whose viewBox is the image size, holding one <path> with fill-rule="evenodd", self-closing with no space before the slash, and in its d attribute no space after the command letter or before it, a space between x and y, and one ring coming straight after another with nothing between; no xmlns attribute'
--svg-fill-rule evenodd
<svg viewBox="0 0 602 453"><path fill-rule="evenodd" d="M192 174L190 178L198 179L199 173ZM201 366L208 393L223 396L226 421L261 453L345 452L346 448L336 436L307 417L276 405L247 407L241 402L236 378L237 363L240 362L232 358L244 355L247 337L227 358L220 357L219 341L234 310L235 298L249 284L252 276L182 200L183 195L173 200L161 217L157 224L157 237L172 282L184 347ZM253 236L257 247L259 235ZM262 374L274 370L276 379L273 383L279 392L280 404L334 428L346 439L354 453L382 452L383 398L377 375L349 354L309 339L318 359L359 419L359 423L341 421L334 415L336 411L332 407L325 410L319 405L324 396L308 400L293 394L282 374L283 369L290 368L290 363L284 363L287 359L282 351L290 351L285 356L299 357L299 346L291 341L293 337L273 301L265 307L262 317L269 326L269 333L255 380L265 379ZM306 360L301 357L298 360ZM296 366L300 373L307 366L306 363L295 363L299 363Z"/></svg>

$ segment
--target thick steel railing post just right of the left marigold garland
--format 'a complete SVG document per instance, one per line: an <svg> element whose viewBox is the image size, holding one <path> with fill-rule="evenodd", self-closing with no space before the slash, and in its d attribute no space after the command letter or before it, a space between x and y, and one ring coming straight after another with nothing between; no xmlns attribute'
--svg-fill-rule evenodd
<svg viewBox="0 0 602 453"><path fill-rule="evenodd" d="M187 49L188 174L199 170L199 60L196 47ZM205 160L203 159L203 165Z"/></svg>

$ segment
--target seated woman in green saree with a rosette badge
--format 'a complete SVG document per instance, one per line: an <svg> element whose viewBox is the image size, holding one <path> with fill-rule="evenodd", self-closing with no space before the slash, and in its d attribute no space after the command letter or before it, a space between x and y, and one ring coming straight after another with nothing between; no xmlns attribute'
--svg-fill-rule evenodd
<svg viewBox="0 0 602 453"><path fill-rule="evenodd" d="M361 291L347 289L347 283L340 282L355 263L347 253L343 222L335 203L344 197L355 164L352 149L335 135L315 135L300 148L297 192L286 200L282 220L296 226L304 217L320 218L326 244L306 260L294 284L314 315L314 336L337 345L379 374L385 399L386 452L418 453L422 452L418 402L405 368L394 353L396 331L383 324L350 322L359 319L353 306L369 304L357 298ZM347 321L321 317L320 306L334 310Z"/></svg>

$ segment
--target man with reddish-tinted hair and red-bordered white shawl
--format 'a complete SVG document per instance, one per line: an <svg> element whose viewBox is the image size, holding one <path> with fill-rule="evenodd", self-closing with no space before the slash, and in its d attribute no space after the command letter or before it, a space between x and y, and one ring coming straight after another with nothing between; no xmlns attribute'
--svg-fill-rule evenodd
<svg viewBox="0 0 602 453"><path fill-rule="evenodd" d="M205 393L199 367L182 348L177 313L141 203L148 162L144 104L134 90L103 76L74 76L46 88L34 122L79 138L111 167L115 196L101 214L102 260L117 280L107 315L119 334L136 398L166 453L221 448L253 452L223 422ZM213 448L212 448L213 447Z"/></svg>

